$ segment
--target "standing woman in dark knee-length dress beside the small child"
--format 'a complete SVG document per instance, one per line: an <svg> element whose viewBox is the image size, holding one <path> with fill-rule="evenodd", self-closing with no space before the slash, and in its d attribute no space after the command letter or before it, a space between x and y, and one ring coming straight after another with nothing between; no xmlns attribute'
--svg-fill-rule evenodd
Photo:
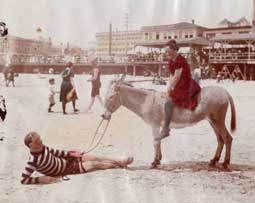
<svg viewBox="0 0 255 203"><path fill-rule="evenodd" d="M66 114L66 103L72 101L73 104L73 111L78 112L79 110L75 107L75 100L78 99L72 78L74 77L73 74L73 63L68 62L67 67L61 73L62 76L62 83L60 88L60 102L62 102L62 109L63 114Z"/></svg>

